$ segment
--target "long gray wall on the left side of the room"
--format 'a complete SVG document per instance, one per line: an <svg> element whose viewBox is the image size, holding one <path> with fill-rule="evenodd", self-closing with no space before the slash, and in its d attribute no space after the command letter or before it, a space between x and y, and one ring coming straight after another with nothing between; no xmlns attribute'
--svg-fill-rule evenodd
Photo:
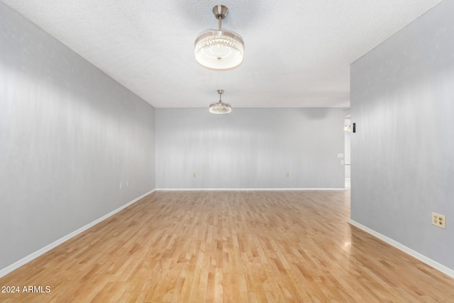
<svg viewBox="0 0 454 303"><path fill-rule="evenodd" d="M153 106L0 1L0 269L154 189L154 127Z"/></svg>

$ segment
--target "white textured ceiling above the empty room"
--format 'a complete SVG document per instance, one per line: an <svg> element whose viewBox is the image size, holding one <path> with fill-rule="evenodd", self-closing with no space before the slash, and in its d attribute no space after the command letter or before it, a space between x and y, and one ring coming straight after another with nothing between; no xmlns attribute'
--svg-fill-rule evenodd
<svg viewBox="0 0 454 303"><path fill-rule="evenodd" d="M1 0L155 107L350 106L349 65L441 0ZM449 0L446 0L449 1ZM218 22L245 41L206 70L194 40Z"/></svg>

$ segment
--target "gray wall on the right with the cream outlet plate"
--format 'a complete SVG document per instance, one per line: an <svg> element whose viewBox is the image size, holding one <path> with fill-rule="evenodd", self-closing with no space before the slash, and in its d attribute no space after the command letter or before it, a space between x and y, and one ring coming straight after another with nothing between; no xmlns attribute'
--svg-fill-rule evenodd
<svg viewBox="0 0 454 303"><path fill-rule="evenodd" d="M351 218L451 269L453 15L443 1L351 66Z"/></svg>

